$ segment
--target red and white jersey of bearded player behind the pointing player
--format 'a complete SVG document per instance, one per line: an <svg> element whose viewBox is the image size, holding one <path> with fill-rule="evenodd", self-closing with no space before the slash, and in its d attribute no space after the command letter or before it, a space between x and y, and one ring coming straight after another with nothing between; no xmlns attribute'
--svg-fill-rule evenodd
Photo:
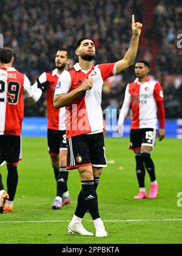
<svg viewBox="0 0 182 256"><path fill-rule="evenodd" d="M56 84L58 82L59 74L57 73L58 69L54 69L50 72L44 72L39 76L39 81L41 83L45 81L49 81L50 88L46 91L46 99L47 99L47 129L52 130L66 130L65 126L65 113L66 108L62 107L60 109L56 109L53 106L53 96L55 93ZM33 85L33 88L37 87L37 83Z"/></svg>

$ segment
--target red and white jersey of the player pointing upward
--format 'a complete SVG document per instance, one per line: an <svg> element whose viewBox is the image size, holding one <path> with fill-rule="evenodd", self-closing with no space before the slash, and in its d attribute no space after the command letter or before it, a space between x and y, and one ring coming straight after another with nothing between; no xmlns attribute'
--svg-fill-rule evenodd
<svg viewBox="0 0 182 256"><path fill-rule="evenodd" d="M92 66L84 71L76 63L73 68L65 70L58 79L55 94L67 94L83 84L84 80L92 79L93 87L79 94L66 106L66 136L67 138L84 133L103 131L103 111L101 108L101 93L104 80L115 74L115 63Z"/></svg>

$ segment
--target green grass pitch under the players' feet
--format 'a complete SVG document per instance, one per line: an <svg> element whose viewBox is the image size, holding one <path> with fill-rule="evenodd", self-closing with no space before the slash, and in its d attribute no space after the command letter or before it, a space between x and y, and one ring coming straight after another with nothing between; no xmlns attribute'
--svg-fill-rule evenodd
<svg viewBox="0 0 182 256"><path fill-rule="evenodd" d="M157 141L152 157L155 162L160 193L151 201L134 201L138 193L135 158L127 150L127 138L107 138L106 154L109 161L98 187L99 209L105 222L107 238L72 236L67 234L68 221L76 207L81 188L78 172L71 171L69 191L72 205L54 211L55 180L47 154L45 138L22 138L23 160L19 163L19 184L12 213L0 215L0 243L182 243L181 221L121 222L131 219L182 219L182 207L177 206L177 194L182 192L181 140ZM110 163L110 160L111 163ZM4 184L7 171L0 169ZM149 190L149 177L146 187ZM65 221L25 222L7 221ZM89 214L84 226L94 232Z"/></svg>

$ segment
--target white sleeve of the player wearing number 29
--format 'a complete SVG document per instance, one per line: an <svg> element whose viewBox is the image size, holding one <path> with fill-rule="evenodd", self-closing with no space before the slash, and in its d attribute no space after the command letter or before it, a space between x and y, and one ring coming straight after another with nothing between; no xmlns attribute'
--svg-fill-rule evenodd
<svg viewBox="0 0 182 256"><path fill-rule="evenodd" d="M31 101L36 102L41 98L42 91L37 88L36 90L31 87L30 80L27 76L24 76L24 92L27 98Z"/></svg>

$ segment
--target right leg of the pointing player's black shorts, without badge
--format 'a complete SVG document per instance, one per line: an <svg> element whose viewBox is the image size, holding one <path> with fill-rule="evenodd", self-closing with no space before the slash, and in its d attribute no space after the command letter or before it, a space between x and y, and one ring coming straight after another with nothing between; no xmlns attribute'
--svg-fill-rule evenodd
<svg viewBox="0 0 182 256"><path fill-rule="evenodd" d="M106 167L107 161L103 132L86 136L89 140L90 158L92 166L96 168Z"/></svg>

